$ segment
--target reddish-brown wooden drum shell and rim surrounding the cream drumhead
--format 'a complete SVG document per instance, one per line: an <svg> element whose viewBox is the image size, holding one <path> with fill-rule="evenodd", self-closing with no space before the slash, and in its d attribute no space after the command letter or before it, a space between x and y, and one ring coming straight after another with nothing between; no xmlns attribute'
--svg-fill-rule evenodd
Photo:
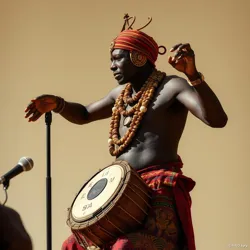
<svg viewBox="0 0 250 250"><path fill-rule="evenodd" d="M83 221L76 219L72 214L72 208L81 190L98 173L112 165L121 166L125 173L119 190L113 199L105 207L96 211L91 218ZM100 248L119 236L140 228L148 215L151 201L151 189L127 162L115 161L107 167L84 184L69 209L67 220L78 241L83 241L82 244L84 244L86 243L84 237L86 237Z"/></svg>

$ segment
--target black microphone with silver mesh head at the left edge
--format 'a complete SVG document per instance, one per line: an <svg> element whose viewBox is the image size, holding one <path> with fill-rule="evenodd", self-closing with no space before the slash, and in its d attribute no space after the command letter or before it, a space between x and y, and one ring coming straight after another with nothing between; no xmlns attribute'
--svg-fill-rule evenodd
<svg viewBox="0 0 250 250"><path fill-rule="evenodd" d="M7 172L5 175L0 177L0 184L4 184L5 182L8 182L10 179L15 177L16 175L19 175L23 171L29 171L33 168L34 162L29 157L22 157L18 164L12 168L9 172Z"/></svg>

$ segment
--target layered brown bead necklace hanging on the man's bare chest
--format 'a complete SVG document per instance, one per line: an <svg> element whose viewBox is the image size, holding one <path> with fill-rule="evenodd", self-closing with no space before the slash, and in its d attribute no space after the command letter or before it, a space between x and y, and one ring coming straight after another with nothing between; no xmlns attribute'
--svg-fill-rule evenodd
<svg viewBox="0 0 250 250"><path fill-rule="evenodd" d="M130 144L138 130L143 115L152 101L158 84L164 79L165 73L154 70L139 92L132 97L132 85L128 83L116 99L112 109L112 118L109 131L109 152L117 156ZM137 103L136 103L137 102ZM128 104L136 103L130 110L126 110ZM124 124L130 124L127 132L119 139L119 126L121 115L125 118ZM126 119L129 118L126 122Z"/></svg>

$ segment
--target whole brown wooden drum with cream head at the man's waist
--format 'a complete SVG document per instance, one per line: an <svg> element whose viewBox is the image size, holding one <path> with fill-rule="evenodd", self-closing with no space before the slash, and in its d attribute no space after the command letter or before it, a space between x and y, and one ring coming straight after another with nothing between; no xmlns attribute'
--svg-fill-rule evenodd
<svg viewBox="0 0 250 250"><path fill-rule="evenodd" d="M67 224L81 245L86 247L90 240L101 248L141 227L150 200L151 190L137 172L127 162L116 161L83 185L69 209Z"/></svg>

